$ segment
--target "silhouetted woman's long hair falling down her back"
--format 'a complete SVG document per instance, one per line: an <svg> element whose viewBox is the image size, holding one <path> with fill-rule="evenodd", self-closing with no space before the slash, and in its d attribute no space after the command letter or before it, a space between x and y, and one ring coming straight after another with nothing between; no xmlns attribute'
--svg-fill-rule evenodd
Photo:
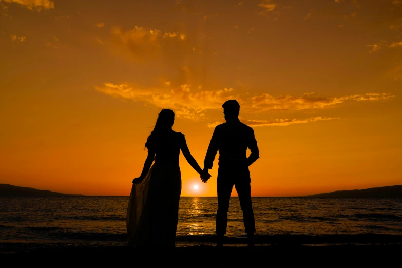
<svg viewBox="0 0 402 268"><path fill-rule="evenodd" d="M170 109L162 109L158 114L157 122L155 123L154 130L148 136L145 147L149 149L156 149L167 134L171 130L175 122L175 113Z"/></svg>

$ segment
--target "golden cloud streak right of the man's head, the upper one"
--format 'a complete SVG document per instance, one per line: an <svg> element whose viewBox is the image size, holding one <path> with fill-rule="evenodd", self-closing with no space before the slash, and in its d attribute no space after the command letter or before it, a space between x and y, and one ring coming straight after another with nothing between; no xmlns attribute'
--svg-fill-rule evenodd
<svg viewBox="0 0 402 268"><path fill-rule="evenodd" d="M355 94L344 97L318 97L316 93L304 93L300 97L281 95L273 97L270 94L257 95L251 98L252 108L262 110L303 110L322 109L334 106L344 101L377 101L395 97L387 93Z"/></svg>

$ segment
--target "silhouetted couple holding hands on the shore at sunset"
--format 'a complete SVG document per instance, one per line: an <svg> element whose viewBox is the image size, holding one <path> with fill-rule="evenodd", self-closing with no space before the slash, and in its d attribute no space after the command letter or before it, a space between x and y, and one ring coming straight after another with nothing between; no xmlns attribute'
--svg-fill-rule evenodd
<svg viewBox="0 0 402 268"><path fill-rule="evenodd" d="M175 246L181 193L180 150L204 183L211 177L208 170L213 167L219 151L217 246L223 245L233 186L243 211L248 246L254 246L256 230L248 166L259 158L257 141L254 130L239 121L240 105L236 100L228 100L222 107L226 123L215 127L203 169L190 154L184 135L172 130L175 113L169 109L159 113L154 130L145 143L148 156L142 173L132 181L127 210L129 246ZM251 151L248 158L247 148Z"/></svg>

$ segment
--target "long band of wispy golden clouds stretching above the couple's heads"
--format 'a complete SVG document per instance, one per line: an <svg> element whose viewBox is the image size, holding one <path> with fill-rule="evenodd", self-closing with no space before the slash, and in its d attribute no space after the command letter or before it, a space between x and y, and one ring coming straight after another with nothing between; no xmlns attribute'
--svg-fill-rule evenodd
<svg viewBox="0 0 402 268"><path fill-rule="evenodd" d="M179 117L194 120L205 118L204 112L206 110L221 110L222 104L229 99L238 100L242 110L245 113L252 114L271 110L323 109L334 107L346 101L379 101L395 97L392 94L375 92L342 97L320 97L316 93L304 93L299 97L293 95L274 97L266 93L252 96L236 93L233 88L204 90L200 85L181 84L175 86L170 81L164 82L158 87L141 87L128 83L104 83L101 86L96 86L95 89L113 97L142 102L159 108L174 109ZM257 124L258 122L250 121L248 124ZM261 121L259 124L296 124L297 122L297 120L292 119L280 122Z"/></svg>

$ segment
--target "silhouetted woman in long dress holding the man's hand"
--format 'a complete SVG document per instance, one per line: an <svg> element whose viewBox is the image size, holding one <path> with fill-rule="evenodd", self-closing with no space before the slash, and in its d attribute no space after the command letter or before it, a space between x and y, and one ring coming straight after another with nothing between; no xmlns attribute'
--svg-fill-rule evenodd
<svg viewBox="0 0 402 268"><path fill-rule="evenodd" d="M175 113L162 109L145 143L148 156L141 176L132 181L128 202L129 246L175 246L181 193L180 150L201 178L210 177L190 154L184 135L171 129L174 121Z"/></svg>

